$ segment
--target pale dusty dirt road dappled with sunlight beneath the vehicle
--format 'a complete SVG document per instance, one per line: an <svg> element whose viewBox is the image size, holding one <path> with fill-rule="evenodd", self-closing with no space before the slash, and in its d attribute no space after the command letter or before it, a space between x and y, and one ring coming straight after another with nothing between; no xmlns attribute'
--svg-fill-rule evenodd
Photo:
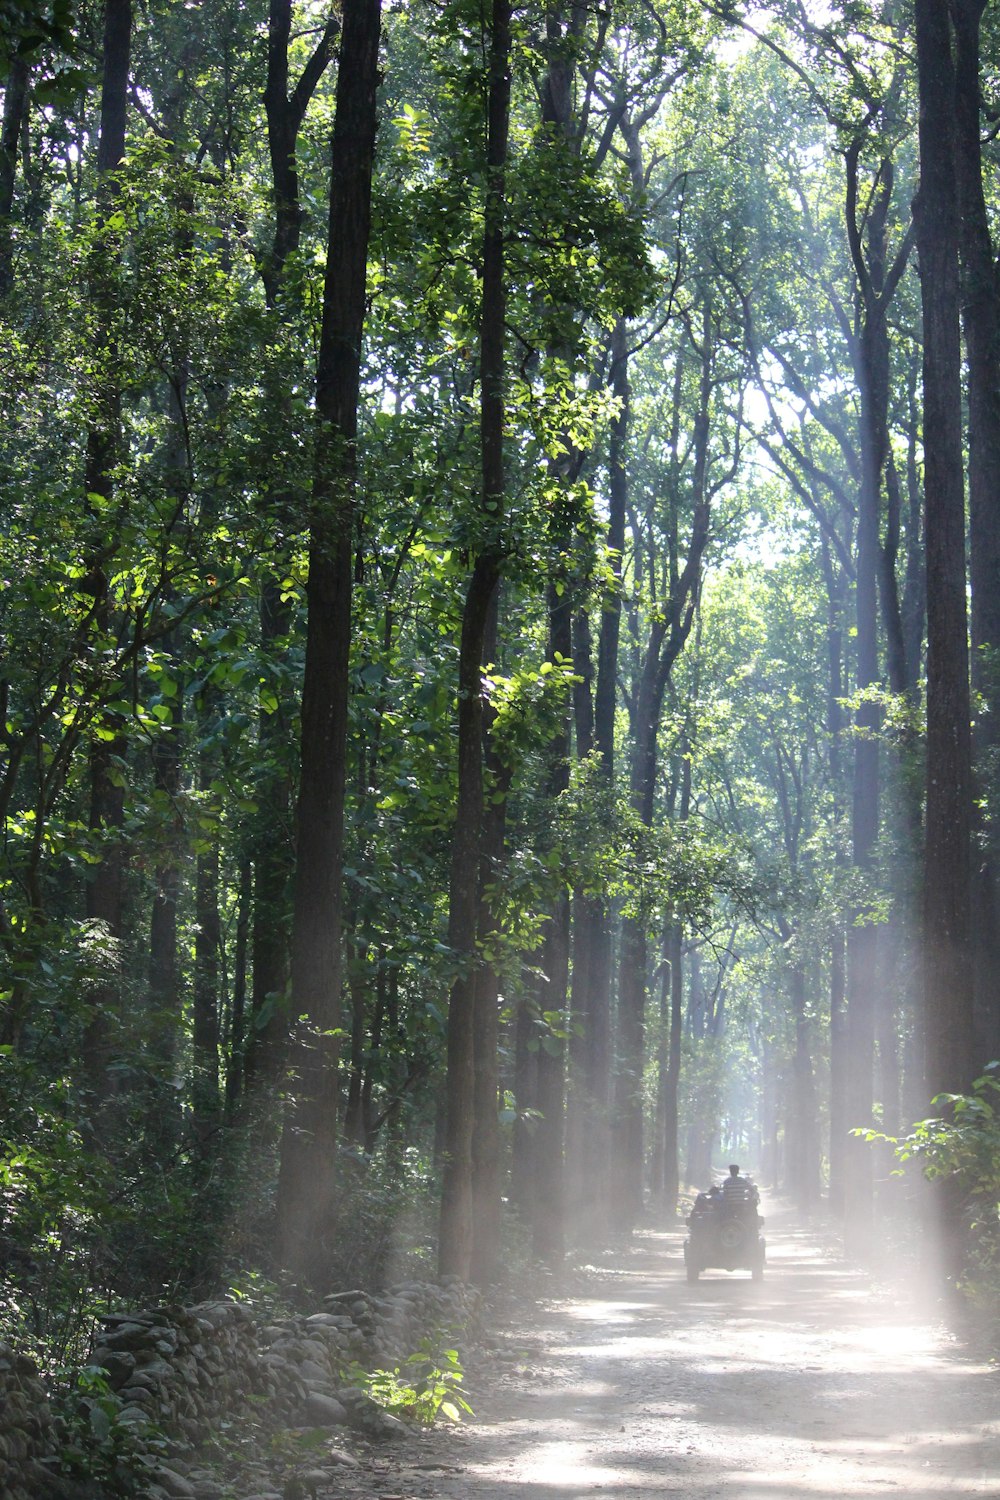
<svg viewBox="0 0 1000 1500"><path fill-rule="evenodd" d="M385 1454L384 1500L1000 1497L1000 1374L906 1293L768 1224L762 1284L646 1233L474 1371L475 1419ZM357 1476L358 1479L361 1476Z"/></svg>

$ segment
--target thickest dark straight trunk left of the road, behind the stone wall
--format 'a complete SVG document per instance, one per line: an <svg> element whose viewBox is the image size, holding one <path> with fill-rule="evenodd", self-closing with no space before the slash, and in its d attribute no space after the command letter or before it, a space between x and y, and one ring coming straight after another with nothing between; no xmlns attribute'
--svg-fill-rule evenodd
<svg viewBox="0 0 1000 1500"><path fill-rule="evenodd" d="M354 492L375 154L379 0L345 0L316 369L316 460L301 704L291 996L294 1102L282 1132L279 1257L322 1288L336 1224L337 1026Z"/></svg>

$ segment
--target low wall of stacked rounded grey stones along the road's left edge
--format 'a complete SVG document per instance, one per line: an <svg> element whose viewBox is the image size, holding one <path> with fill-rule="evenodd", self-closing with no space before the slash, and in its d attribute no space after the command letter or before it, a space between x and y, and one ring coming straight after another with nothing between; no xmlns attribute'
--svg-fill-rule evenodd
<svg viewBox="0 0 1000 1500"><path fill-rule="evenodd" d="M114 1394L118 1432L148 1455L145 1492L159 1500L189 1492L174 1484L171 1454L190 1454L222 1422L247 1413L273 1428L390 1434L399 1424L352 1383L351 1368L394 1370L421 1340L444 1347L477 1317L478 1296L459 1281L411 1281L378 1296L345 1292L327 1298L321 1312L264 1323L229 1300L163 1306L105 1317L90 1364ZM46 1480L60 1443L34 1365L0 1346L1 1500L70 1492Z"/></svg>

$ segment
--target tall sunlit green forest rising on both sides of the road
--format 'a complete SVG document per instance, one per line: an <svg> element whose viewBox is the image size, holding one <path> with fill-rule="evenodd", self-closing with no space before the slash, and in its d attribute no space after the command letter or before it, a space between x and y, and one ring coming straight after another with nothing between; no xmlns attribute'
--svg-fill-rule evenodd
<svg viewBox="0 0 1000 1500"><path fill-rule="evenodd" d="M0 63L3 1336L558 1269L729 1160L1000 1310L985 0Z"/></svg>

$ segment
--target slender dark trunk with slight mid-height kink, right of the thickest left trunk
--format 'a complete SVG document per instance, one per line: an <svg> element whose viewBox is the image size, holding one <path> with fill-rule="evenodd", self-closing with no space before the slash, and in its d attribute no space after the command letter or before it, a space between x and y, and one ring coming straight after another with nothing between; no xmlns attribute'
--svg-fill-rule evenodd
<svg viewBox="0 0 1000 1500"><path fill-rule="evenodd" d="M483 648L499 584L504 513L504 201L510 123L510 0L493 0L489 39L483 304L480 314L480 441L483 516L493 530L475 560L465 598L459 656L459 798L451 848L448 944L463 966L448 1000L448 1120L438 1264L472 1270L472 1130L475 1118L475 934L483 836Z"/></svg>

